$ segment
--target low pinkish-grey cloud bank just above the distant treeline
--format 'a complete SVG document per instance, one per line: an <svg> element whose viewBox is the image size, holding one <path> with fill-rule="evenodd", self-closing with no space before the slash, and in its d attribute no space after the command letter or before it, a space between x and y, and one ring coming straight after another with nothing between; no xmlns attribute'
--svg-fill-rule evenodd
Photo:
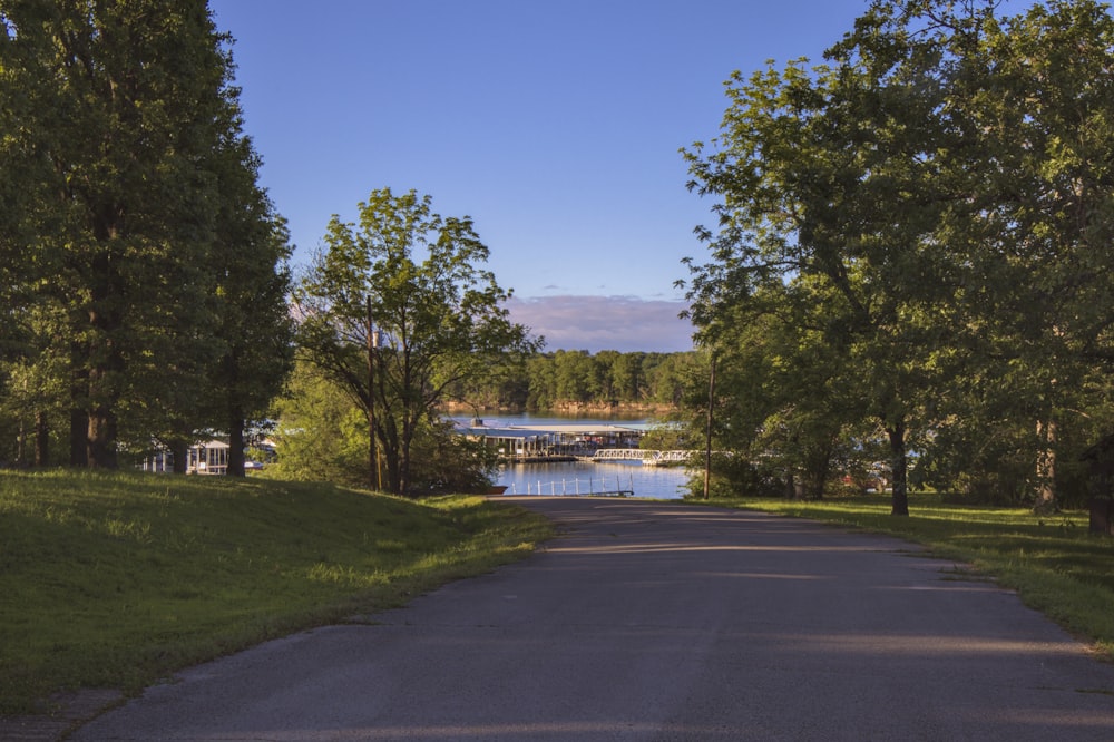
<svg viewBox="0 0 1114 742"><path fill-rule="evenodd" d="M674 353L692 350L692 324L677 316L684 302L632 296L512 297L507 303L515 322L544 335L546 350L597 353Z"/></svg>

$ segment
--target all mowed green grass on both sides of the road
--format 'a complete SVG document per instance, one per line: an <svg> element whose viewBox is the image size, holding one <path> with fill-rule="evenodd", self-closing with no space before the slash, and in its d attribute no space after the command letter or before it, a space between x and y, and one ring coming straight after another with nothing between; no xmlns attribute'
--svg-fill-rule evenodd
<svg viewBox="0 0 1114 742"><path fill-rule="evenodd" d="M713 501L891 534L1018 590L1114 658L1114 538L913 495ZM136 692L267 638L397 606L530 554L540 516L479 497L405 500L330 485L0 472L0 715L59 690Z"/></svg>

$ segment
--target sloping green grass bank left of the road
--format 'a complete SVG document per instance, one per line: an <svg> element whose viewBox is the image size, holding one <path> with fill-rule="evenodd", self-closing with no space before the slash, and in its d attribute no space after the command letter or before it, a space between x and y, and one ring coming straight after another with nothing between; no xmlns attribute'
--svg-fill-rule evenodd
<svg viewBox="0 0 1114 742"><path fill-rule="evenodd" d="M0 715L136 692L267 638L403 604L551 535L477 497L329 485L0 472Z"/></svg>

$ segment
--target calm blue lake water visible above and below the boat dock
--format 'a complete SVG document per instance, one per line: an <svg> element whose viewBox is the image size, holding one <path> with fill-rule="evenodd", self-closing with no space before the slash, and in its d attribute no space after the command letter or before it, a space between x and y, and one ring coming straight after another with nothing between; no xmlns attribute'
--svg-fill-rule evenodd
<svg viewBox="0 0 1114 742"><path fill-rule="evenodd" d="M488 426L645 423L645 418L535 417L529 414L481 413ZM467 421L470 418L461 418ZM684 467L644 467L637 461L589 463L509 463L500 468L496 484L507 495L589 495L600 491L634 490L635 497L681 498L690 473Z"/></svg>

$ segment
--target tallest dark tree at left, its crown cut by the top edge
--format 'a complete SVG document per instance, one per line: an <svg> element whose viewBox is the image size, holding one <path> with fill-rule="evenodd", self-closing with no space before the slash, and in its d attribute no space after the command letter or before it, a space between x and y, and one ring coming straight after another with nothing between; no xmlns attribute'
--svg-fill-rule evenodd
<svg viewBox="0 0 1114 742"><path fill-rule="evenodd" d="M0 2L0 121L18 224L65 306L71 462L121 437L222 349L215 153L234 127L231 58L204 0ZM155 373L155 372L158 373Z"/></svg>

